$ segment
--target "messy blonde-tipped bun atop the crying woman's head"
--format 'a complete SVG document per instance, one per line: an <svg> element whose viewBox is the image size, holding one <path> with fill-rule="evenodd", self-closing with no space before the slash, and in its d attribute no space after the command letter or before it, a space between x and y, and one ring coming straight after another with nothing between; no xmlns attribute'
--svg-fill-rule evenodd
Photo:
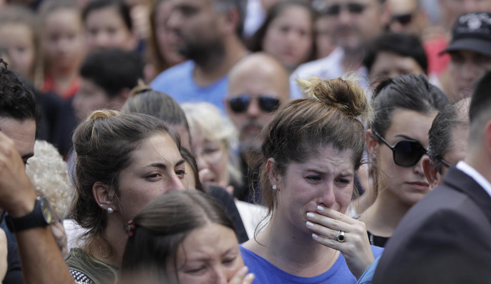
<svg viewBox="0 0 491 284"><path fill-rule="evenodd" d="M328 106L338 108L348 116L362 121L371 116L371 106L356 78L322 80L319 77L296 79L302 92Z"/></svg>

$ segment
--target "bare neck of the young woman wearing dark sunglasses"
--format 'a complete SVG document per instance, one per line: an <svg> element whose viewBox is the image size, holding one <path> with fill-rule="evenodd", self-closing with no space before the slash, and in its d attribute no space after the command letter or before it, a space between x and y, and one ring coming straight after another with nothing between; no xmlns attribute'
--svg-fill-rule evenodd
<svg viewBox="0 0 491 284"><path fill-rule="evenodd" d="M390 237L410 205L401 202L389 189L379 190L375 202L367 208L360 221L375 235Z"/></svg>

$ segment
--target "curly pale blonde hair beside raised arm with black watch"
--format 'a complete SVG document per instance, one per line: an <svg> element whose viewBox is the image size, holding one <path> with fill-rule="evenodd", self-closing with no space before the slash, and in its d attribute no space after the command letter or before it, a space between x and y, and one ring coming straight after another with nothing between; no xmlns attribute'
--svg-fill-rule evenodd
<svg viewBox="0 0 491 284"><path fill-rule="evenodd" d="M36 140L34 156L28 160L26 173L36 194L49 201L53 215L64 219L75 191L66 162L58 150L47 141Z"/></svg>

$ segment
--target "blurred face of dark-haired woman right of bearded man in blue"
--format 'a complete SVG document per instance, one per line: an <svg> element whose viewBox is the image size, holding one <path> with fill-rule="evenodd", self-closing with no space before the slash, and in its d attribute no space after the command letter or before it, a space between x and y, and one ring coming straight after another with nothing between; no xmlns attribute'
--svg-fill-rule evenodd
<svg viewBox="0 0 491 284"><path fill-rule="evenodd" d="M271 21L262 42L263 51L293 70L309 59L313 49L313 29L310 12L302 6L291 5Z"/></svg>

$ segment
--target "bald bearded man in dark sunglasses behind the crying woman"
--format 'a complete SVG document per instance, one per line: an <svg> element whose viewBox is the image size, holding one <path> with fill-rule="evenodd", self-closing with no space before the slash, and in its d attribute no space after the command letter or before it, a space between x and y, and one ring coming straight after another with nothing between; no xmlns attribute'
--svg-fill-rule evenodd
<svg viewBox="0 0 491 284"><path fill-rule="evenodd" d="M262 137L259 134L288 97L288 74L283 65L269 55L248 55L230 70L225 105L230 120L239 131L242 169L249 180L258 180L255 178L254 161L261 151ZM252 201L248 179L242 189L234 191L240 200Z"/></svg>

